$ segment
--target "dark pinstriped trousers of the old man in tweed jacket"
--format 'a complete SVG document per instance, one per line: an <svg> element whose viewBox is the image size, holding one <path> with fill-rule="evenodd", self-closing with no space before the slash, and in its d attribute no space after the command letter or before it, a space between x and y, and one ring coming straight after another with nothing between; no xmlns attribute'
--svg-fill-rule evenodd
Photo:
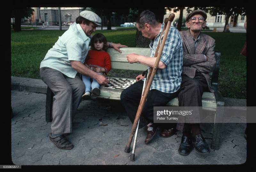
<svg viewBox="0 0 256 172"><path fill-rule="evenodd" d="M194 78L181 75L181 85L179 89L179 106L202 107L202 96L208 90L208 83L203 74L196 72ZM186 123L178 123L177 130L191 131L191 123L200 123L200 113L194 111L193 116L186 116Z"/></svg>

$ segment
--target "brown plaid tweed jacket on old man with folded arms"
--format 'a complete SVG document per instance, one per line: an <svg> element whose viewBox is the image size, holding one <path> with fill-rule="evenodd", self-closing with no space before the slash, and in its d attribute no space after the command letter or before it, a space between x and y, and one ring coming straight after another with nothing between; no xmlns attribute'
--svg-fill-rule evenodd
<svg viewBox="0 0 256 172"><path fill-rule="evenodd" d="M191 78L195 77L196 71L201 72L207 83L210 92L214 92L210 86L209 72L212 72L216 63L214 55L215 39L201 33L200 39L196 44L189 30L180 31L183 47L183 66L182 74ZM204 60L204 55L208 60Z"/></svg>

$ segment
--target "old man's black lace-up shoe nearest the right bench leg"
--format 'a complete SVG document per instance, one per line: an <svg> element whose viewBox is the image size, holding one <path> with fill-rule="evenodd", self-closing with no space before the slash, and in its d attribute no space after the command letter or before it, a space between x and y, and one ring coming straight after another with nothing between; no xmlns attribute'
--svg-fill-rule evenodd
<svg viewBox="0 0 256 172"><path fill-rule="evenodd" d="M198 152L199 154L210 153L209 146L206 143L202 134L197 134L195 136L192 136L192 141L193 141L194 148L196 149L196 152Z"/></svg>

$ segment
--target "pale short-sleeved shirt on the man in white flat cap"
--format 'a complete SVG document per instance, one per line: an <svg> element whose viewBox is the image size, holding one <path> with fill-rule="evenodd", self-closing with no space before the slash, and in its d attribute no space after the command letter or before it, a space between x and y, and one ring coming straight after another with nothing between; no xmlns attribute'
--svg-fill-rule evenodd
<svg viewBox="0 0 256 172"><path fill-rule="evenodd" d="M91 36L86 36L79 24L70 25L54 46L48 50L40 68L56 69L70 78L75 78L77 71L71 67L70 61L84 63L90 41Z"/></svg>

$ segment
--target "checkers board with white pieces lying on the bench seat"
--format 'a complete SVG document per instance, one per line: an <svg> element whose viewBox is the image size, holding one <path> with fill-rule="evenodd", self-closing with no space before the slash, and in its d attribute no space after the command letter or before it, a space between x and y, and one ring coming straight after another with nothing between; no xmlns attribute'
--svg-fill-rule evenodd
<svg viewBox="0 0 256 172"><path fill-rule="evenodd" d="M136 80L124 79L124 78L110 78L108 85L101 85L100 87L110 89L126 89L130 85L134 84Z"/></svg>

